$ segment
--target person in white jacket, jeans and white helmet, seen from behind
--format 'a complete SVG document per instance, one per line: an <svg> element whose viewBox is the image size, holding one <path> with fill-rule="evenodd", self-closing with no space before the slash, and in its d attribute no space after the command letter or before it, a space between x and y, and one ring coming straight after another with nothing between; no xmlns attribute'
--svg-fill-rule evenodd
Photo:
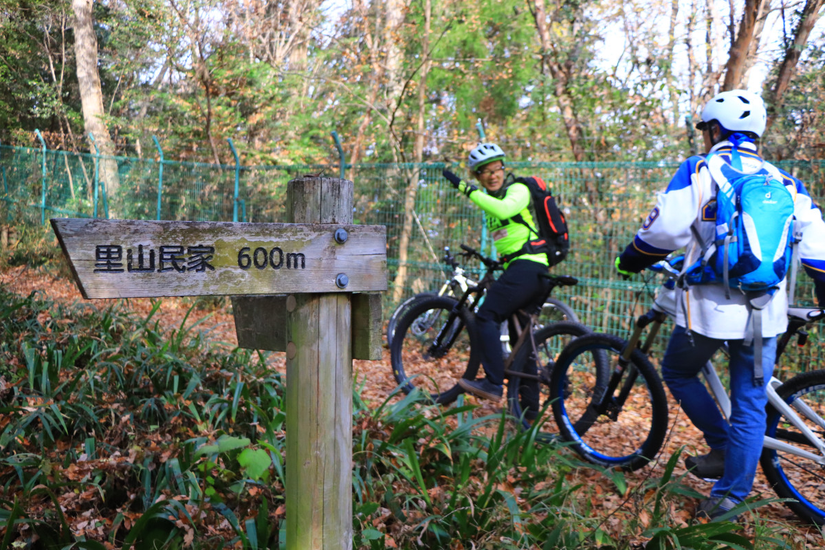
<svg viewBox="0 0 825 550"><path fill-rule="evenodd" d="M738 172L770 174L790 191L794 232L802 235L799 257L814 280L817 300L822 305L825 223L802 181L759 156L757 140L766 125L761 98L744 90L722 92L709 101L701 118L697 128L702 130L707 153L717 153L717 158ZM667 189L658 195L656 206L633 242L616 258L620 274L638 273L683 247L685 266L699 260L705 244L715 237L716 191L705 155L683 162ZM787 328L785 284L782 280L761 311L761 335L752 335L761 336L761 384L754 383L760 381L754 376L754 350L758 346L755 340L746 338L751 336L748 326L752 308L747 306L745 295L721 282L686 284L678 295L676 327L662 358L662 378L687 416L702 430L710 448L708 454L686 458L686 467L699 477L718 478L709 498L700 502L698 516L717 518L744 501L752 490L766 429L765 388L775 362L776 336ZM729 423L698 377L702 366L725 341L730 350Z"/></svg>

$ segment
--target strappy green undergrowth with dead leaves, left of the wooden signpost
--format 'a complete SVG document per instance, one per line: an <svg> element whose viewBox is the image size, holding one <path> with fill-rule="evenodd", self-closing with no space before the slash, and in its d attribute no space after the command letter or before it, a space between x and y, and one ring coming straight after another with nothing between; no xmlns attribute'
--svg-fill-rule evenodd
<svg viewBox="0 0 825 550"><path fill-rule="evenodd" d="M38 502L43 487L62 500L76 491L90 513L111 514L112 543L183 548L203 516L282 501L272 489L283 487L283 386L263 358L210 350L186 319L163 331L159 303L143 318L39 294L0 303L0 483L19 502L0 509L20 516L10 521L75 543L54 525L68 521L60 507ZM257 498L238 504L250 487Z"/></svg>

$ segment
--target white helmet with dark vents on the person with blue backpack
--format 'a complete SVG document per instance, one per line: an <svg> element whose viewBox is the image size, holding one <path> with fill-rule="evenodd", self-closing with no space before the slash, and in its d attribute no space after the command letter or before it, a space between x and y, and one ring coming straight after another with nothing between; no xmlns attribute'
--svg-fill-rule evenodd
<svg viewBox="0 0 825 550"><path fill-rule="evenodd" d="M767 116L760 96L747 90L731 90L708 101L696 128L705 129L711 120L716 120L727 132L752 132L760 137L765 131Z"/></svg>

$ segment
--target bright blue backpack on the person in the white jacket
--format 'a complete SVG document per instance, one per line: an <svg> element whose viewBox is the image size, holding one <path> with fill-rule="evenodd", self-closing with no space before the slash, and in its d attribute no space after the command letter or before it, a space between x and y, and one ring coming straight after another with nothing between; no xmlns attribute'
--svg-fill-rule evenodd
<svg viewBox="0 0 825 550"><path fill-rule="evenodd" d="M688 284L722 282L728 298L730 289L749 297L772 296L790 269L794 197L764 167L745 174L715 153L705 162L719 188L715 238L686 270L685 280ZM702 242L698 234L695 237Z"/></svg>

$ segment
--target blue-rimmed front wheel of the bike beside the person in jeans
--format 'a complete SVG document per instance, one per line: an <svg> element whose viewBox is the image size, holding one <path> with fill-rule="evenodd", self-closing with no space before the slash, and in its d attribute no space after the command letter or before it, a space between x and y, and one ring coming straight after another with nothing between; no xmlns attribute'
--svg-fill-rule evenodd
<svg viewBox="0 0 825 550"><path fill-rule="evenodd" d="M564 440L585 460L637 470L656 456L667 434L667 397L648 358L610 334L582 336L562 350L550 378L553 415ZM601 385L604 363L610 379Z"/></svg>

